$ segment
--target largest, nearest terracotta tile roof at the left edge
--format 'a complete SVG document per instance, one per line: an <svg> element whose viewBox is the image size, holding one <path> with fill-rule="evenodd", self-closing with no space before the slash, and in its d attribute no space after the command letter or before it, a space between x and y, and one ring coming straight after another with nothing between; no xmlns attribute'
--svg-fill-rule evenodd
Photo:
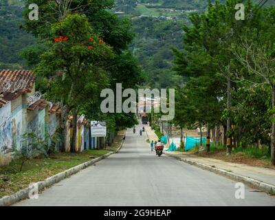
<svg viewBox="0 0 275 220"><path fill-rule="evenodd" d="M3 107L5 102L32 91L34 82L35 76L28 70L0 70L0 107Z"/></svg>

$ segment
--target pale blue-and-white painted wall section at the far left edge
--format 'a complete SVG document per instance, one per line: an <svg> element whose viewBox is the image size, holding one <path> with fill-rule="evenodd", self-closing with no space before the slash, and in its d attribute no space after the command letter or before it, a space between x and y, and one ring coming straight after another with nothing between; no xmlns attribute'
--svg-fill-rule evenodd
<svg viewBox="0 0 275 220"><path fill-rule="evenodd" d="M0 164L10 162L10 154L5 154L5 147L12 148L12 113L11 102L0 109Z"/></svg>

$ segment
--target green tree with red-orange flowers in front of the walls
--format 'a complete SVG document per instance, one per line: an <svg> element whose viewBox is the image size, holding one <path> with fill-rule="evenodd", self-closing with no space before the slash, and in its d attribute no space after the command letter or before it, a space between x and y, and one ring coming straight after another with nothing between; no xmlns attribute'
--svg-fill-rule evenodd
<svg viewBox="0 0 275 220"><path fill-rule="evenodd" d="M76 144L77 115L87 102L100 98L101 89L109 85L107 63L113 58L112 48L95 34L85 15L68 14L52 25L52 40L41 55L35 72L45 80L47 96L61 100L63 126L67 115L73 115L73 140Z"/></svg>

